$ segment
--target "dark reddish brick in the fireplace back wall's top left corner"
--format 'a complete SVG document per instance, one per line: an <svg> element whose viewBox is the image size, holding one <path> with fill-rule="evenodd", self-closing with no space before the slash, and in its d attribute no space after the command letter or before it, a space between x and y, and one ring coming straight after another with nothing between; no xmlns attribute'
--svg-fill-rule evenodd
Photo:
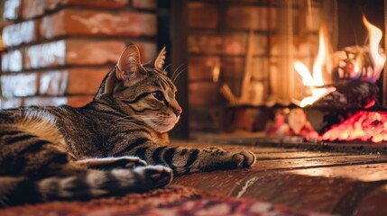
<svg viewBox="0 0 387 216"><path fill-rule="evenodd" d="M216 28L219 13L214 4L189 3L189 27Z"/></svg>

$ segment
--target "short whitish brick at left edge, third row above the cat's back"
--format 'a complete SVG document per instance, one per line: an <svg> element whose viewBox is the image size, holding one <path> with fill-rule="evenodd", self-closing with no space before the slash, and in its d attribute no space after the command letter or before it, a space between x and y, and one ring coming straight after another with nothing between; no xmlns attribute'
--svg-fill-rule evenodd
<svg viewBox="0 0 387 216"><path fill-rule="evenodd" d="M23 69L23 49L9 50L2 55L3 72L17 72Z"/></svg>

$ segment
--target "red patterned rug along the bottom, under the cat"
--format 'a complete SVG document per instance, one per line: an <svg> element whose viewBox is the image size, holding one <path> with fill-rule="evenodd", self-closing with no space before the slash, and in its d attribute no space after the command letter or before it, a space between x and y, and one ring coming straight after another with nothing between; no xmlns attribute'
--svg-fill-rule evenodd
<svg viewBox="0 0 387 216"><path fill-rule="evenodd" d="M201 190L172 185L149 193L89 202L45 202L0 209L0 215L322 215L292 211L281 205L221 197Z"/></svg>

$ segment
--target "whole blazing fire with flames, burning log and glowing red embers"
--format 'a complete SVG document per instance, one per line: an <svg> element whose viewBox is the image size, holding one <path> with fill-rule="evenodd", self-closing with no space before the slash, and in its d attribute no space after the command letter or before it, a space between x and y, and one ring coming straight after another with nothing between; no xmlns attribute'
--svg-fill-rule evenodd
<svg viewBox="0 0 387 216"><path fill-rule="evenodd" d="M346 47L335 53L329 53L327 47L327 38L324 32L319 32L318 56L313 64L312 73L309 68L301 62L295 62L294 68L302 77L302 83L310 90L310 95L303 98L299 106L315 103L321 97L336 91L335 87L327 87L323 79L323 71L330 64L329 60L335 62L333 69L327 69L332 74L333 83L337 87L337 94L344 95L346 101L350 96L346 94L351 91L345 91L343 88L360 88L359 84L367 83L374 85L379 79L386 61L386 55L380 48L379 43L382 40L382 31L369 23L363 16L363 23L368 31L368 43L363 46ZM330 81L329 81L330 82ZM368 85L367 85L368 86ZM351 89L351 88L350 88ZM343 94L344 93L344 94ZM362 103L362 109L372 106L375 101L373 95L368 95L373 101L369 104ZM351 100L348 100L351 101ZM334 101L335 103L335 101ZM339 124L332 125L318 137L320 140L363 140L381 142L387 141L387 112L359 111L347 113L346 119L341 120Z"/></svg>

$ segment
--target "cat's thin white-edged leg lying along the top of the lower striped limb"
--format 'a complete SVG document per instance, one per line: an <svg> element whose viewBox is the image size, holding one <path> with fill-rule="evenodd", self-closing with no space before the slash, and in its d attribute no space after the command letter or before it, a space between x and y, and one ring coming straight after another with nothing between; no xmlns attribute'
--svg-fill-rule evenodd
<svg viewBox="0 0 387 216"><path fill-rule="evenodd" d="M147 166L148 164L140 157L102 157L87 158L74 162L78 166L84 166L93 169L113 169L113 168L134 168L136 166Z"/></svg>

